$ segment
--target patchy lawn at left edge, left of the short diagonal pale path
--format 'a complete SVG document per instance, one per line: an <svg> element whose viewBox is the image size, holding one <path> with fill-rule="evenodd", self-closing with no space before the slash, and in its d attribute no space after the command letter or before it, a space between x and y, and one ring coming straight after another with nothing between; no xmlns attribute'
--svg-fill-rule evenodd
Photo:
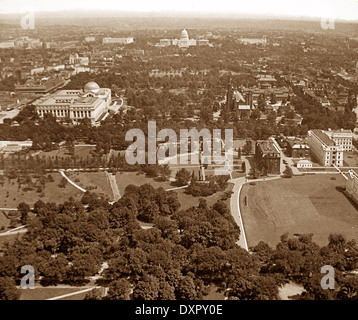
<svg viewBox="0 0 358 320"><path fill-rule="evenodd" d="M51 176L54 181L46 182L43 197L40 197L40 194L36 192L36 189L31 191L23 191L22 188L19 189L16 179L12 179L10 181L6 179L4 185L0 186L0 207L16 208L21 202L25 202L30 206L33 206L33 204L39 199L44 202L63 203L67 201L69 197L73 197L75 199L80 198L82 192L73 187L71 184L67 183L65 188L60 188L58 186L62 179L60 173L51 173ZM22 185L22 187L24 186Z"/></svg>

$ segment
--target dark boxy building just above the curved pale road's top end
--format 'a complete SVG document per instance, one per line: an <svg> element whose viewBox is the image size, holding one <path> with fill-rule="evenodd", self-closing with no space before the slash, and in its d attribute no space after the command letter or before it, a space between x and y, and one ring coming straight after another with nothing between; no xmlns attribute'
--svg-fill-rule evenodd
<svg viewBox="0 0 358 320"><path fill-rule="evenodd" d="M255 145L255 163L266 174L280 174L281 153L273 141L259 140Z"/></svg>

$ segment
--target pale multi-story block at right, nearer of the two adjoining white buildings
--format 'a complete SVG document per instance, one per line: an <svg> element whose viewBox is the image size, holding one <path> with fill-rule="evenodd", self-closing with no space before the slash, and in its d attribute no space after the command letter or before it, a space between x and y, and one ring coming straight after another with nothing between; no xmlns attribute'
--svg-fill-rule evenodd
<svg viewBox="0 0 358 320"><path fill-rule="evenodd" d="M325 167L343 166L343 146L337 144L323 130L308 131L307 142L311 150L311 157L315 158L321 165Z"/></svg>

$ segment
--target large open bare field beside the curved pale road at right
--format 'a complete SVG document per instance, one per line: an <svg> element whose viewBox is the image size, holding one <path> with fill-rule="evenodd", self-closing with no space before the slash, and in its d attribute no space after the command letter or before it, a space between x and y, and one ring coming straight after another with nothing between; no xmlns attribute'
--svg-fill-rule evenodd
<svg viewBox="0 0 358 320"><path fill-rule="evenodd" d="M244 185L240 208L249 247L261 240L275 246L285 232L313 233L319 245L331 233L358 240L358 211L339 186L345 186L344 178L328 174Z"/></svg>

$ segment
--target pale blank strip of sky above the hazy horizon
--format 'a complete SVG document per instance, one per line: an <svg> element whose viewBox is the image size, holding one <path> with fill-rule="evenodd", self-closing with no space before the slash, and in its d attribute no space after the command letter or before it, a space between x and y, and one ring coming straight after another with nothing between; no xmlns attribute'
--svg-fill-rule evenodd
<svg viewBox="0 0 358 320"><path fill-rule="evenodd" d="M358 0L0 0L0 13L63 10L195 11L358 20Z"/></svg>

